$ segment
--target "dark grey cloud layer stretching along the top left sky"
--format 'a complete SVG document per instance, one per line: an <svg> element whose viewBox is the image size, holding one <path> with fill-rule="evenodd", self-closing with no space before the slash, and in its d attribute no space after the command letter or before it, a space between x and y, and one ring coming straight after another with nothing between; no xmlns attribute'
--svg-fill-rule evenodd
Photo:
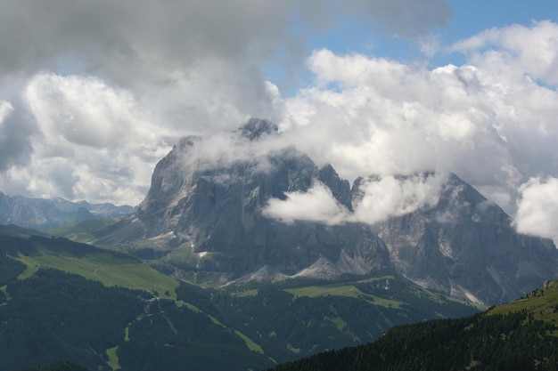
<svg viewBox="0 0 558 371"><path fill-rule="evenodd" d="M5 58L0 72L83 73L126 88L173 84L176 75L190 75L208 61L226 64L234 70L230 77L257 77L262 60L286 52L296 64L306 36L356 16L403 36L422 34L449 16L441 0L234 0L218 5L2 0L1 5L0 54ZM244 84L251 89L244 93L261 93L261 80Z"/></svg>

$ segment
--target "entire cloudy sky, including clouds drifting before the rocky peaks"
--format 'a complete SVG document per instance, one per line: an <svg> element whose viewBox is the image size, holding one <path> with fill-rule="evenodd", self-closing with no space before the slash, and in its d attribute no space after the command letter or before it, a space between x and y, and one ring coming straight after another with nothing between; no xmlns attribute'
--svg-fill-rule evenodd
<svg viewBox="0 0 558 371"><path fill-rule="evenodd" d="M363 202L391 201L358 222L453 172L558 241L557 86L556 0L0 0L0 191L135 206L180 137L262 117L274 146L379 175ZM291 198L346 221L330 196Z"/></svg>

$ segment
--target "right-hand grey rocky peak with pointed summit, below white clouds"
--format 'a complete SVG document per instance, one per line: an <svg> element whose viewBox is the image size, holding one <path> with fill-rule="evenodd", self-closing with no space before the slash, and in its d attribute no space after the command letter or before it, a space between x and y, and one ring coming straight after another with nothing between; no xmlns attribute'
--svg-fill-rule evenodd
<svg viewBox="0 0 558 371"><path fill-rule="evenodd" d="M551 240L517 234L500 207L455 175L438 206L383 222L379 236L406 278L473 302L508 302L557 274Z"/></svg>

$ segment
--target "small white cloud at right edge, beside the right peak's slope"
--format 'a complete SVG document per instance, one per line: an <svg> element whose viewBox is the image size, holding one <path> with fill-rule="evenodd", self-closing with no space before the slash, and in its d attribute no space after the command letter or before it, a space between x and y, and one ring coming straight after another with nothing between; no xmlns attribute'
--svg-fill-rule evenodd
<svg viewBox="0 0 558 371"><path fill-rule="evenodd" d="M520 233L553 238L558 245L558 179L531 178L520 188L514 224Z"/></svg>

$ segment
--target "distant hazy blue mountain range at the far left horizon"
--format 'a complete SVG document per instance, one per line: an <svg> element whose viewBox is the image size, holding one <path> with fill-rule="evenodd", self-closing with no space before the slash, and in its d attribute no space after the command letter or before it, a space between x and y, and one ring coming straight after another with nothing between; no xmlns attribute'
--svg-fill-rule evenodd
<svg viewBox="0 0 558 371"><path fill-rule="evenodd" d="M16 224L36 230L51 230L70 222L82 222L110 216L131 214L132 206L109 203L70 202L63 198L10 197L0 192L0 224Z"/></svg>

